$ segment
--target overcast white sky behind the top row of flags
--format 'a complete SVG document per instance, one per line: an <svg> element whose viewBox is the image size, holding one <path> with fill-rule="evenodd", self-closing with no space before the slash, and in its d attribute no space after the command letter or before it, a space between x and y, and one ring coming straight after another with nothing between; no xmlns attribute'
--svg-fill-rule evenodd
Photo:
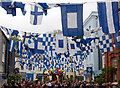
<svg viewBox="0 0 120 88"><path fill-rule="evenodd" d="M30 3L32 2L46 2L46 3L84 3L83 5L83 19L85 20L92 11L97 11L98 0L14 0L26 3L26 15L23 16L20 9L17 9L17 15L12 16L6 14L6 11L0 7L0 25L6 28L19 30L23 32L32 33L46 33L53 30L62 30L61 25L61 9L54 7L48 9L47 16L43 16L41 25L30 24ZM101 0L102 1L102 0ZM85 3L86 2L86 3Z"/></svg>

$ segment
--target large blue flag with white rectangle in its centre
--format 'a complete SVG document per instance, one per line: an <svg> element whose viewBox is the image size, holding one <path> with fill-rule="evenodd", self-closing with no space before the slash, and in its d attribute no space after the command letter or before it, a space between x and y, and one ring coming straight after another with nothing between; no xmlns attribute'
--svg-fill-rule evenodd
<svg viewBox="0 0 120 88"><path fill-rule="evenodd" d="M62 29L64 36L82 36L83 4L61 5Z"/></svg>

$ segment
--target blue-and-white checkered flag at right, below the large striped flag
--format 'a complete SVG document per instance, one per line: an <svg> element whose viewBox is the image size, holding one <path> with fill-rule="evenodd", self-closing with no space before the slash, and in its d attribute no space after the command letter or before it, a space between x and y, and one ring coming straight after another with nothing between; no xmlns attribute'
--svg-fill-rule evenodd
<svg viewBox="0 0 120 88"><path fill-rule="evenodd" d="M100 47L101 53L113 51L112 45L113 44L112 44L111 34L106 34L100 37L99 47Z"/></svg>

